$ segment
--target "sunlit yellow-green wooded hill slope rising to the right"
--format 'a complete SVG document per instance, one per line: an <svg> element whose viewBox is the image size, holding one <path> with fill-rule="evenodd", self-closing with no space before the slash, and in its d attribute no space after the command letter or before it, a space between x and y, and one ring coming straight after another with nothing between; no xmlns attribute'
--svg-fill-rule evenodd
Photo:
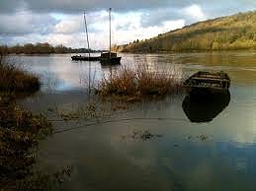
<svg viewBox="0 0 256 191"><path fill-rule="evenodd" d="M256 11L193 24L118 46L124 52L256 49Z"/></svg>

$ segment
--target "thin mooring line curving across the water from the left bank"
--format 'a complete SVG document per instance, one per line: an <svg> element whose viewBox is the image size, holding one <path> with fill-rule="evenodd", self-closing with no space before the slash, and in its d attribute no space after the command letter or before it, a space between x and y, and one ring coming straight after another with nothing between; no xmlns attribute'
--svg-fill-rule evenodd
<svg viewBox="0 0 256 191"><path fill-rule="evenodd" d="M66 131L71 131L71 130L74 130L74 129L80 129L80 128L84 128L84 127L99 125L99 124L115 123L115 122L130 121L130 120L174 120L174 121L189 122L188 120L185 120L185 119L177 119L177 118L171 118L171 117L153 117L153 118L133 117L133 118L123 118L123 119L116 119L116 120L114 119L114 120L107 120L107 121L89 123L89 124L85 124L85 125L71 127L71 128L68 128L68 129L53 131L52 134L63 133L63 132L66 132Z"/></svg>

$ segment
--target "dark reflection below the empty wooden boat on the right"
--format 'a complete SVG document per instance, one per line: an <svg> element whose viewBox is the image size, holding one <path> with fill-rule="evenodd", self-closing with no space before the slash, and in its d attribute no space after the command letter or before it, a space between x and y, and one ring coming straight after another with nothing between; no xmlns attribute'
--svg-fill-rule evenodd
<svg viewBox="0 0 256 191"><path fill-rule="evenodd" d="M228 105L229 101L229 91L200 97L192 92L184 98L182 107L191 122L210 122Z"/></svg>

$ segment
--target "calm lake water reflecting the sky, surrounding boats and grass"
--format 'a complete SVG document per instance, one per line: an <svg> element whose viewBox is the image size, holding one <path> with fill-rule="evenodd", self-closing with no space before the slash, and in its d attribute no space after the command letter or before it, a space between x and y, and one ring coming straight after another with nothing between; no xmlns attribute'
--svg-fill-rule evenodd
<svg viewBox="0 0 256 191"><path fill-rule="evenodd" d="M112 110L98 122L64 122L60 112L88 102L89 63L71 61L69 54L14 56L43 82L41 92L22 103L54 120L56 133L40 143L38 167L50 172L71 165L65 190L255 190L256 52L122 56L122 65L130 67L176 67L187 75L224 71L229 94L201 104L170 96ZM111 69L90 64L96 86ZM155 136L144 139L141 132Z"/></svg>

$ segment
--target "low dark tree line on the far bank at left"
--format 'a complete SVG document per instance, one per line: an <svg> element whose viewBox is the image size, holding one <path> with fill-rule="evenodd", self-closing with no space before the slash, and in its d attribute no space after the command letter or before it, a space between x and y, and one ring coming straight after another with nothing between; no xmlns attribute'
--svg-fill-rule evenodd
<svg viewBox="0 0 256 191"><path fill-rule="evenodd" d="M44 43L27 43L24 45L0 45L1 54L62 54L62 53L88 53L95 50L87 48L71 48L65 47L62 44L52 46L47 42Z"/></svg>

